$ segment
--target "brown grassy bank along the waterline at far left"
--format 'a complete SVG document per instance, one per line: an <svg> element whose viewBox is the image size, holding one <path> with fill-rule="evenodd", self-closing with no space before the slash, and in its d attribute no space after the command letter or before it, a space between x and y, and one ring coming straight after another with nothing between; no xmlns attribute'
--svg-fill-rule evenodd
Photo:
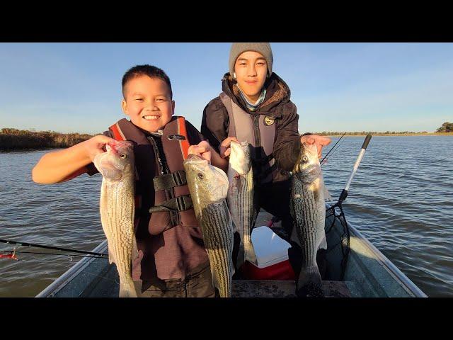
<svg viewBox="0 0 453 340"><path fill-rule="evenodd" d="M80 133L34 132L3 128L0 130L0 150L71 147L91 137L93 135Z"/></svg>

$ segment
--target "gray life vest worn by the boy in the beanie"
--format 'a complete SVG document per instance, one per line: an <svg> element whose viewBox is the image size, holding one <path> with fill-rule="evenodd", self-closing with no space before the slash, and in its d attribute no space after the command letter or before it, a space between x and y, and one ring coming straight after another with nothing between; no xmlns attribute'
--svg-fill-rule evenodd
<svg viewBox="0 0 453 340"><path fill-rule="evenodd" d="M239 142L248 141L251 145L253 179L258 184L272 182L278 171L273 157L275 118L246 113L224 92L219 97L229 115L228 137L236 137Z"/></svg>

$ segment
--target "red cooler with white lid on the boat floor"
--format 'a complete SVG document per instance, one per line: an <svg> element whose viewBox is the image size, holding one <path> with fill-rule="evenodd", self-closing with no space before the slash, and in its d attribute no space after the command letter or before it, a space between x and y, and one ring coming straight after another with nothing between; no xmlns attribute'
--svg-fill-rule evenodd
<svg viewBox="0 0 453 340"><path fill-rule="evenodd" d="M289 263L290 244L279 237L269 227L253 229L251 234L258 265L246 261L241 267L246 280L295 280Z"/></svg>

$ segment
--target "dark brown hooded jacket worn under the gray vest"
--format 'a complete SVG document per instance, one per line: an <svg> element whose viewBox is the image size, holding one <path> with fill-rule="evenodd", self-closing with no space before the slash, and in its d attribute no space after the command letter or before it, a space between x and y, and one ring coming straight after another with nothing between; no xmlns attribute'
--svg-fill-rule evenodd
<svg viewBox="0 0 453 340"><path fill-rule="evenodd" d="M265 115L275 120L273 157L279 174L273 178L273 182L284 181L289 178L288 171L292 171L299 152L299 115L297 115L296 106L290 101L291 91L289 87L277 74L273 73L266 80L264 86L266 96L263 103L258 106L256 111L249 111L239 94L238 86L231 81L229 73L226 73L222 79L222 91L243 111L251 116ZM220 144L228 137L229 132L228 111L220 97L212 99L205 107L201 132L210 142L210 145L219 152Z"/></svg>

